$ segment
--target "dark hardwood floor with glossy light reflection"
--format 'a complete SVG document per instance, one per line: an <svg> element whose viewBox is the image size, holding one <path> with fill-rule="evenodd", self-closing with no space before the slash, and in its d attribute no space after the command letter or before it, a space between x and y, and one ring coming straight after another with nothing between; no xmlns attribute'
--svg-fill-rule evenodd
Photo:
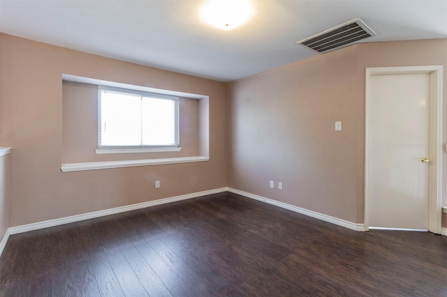
<svg viewBox="0 0 447 297"><path fill-rule="evenodd" d="M10 236L0 296L447 296L447 237L222 193Z"/></svg>

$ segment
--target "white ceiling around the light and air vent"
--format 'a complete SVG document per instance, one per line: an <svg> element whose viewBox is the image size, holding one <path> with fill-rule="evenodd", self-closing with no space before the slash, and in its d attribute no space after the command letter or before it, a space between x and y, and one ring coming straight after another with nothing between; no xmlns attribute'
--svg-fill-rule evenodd
<svg viewBox="0 0 447 297"><path fill-rule="evenodd" d="M253 0L231 31L203 23L203 0L0 0L0 31L101 56L228 82L316 53L298 40L356 17L364 42L447 38L447 0Z"/></svg>

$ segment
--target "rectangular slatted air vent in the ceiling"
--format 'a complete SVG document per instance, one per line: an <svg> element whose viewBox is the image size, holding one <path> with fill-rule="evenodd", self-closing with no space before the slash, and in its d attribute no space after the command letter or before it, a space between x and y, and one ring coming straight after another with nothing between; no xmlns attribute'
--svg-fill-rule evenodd
<svg viewBox="0 0 447 297"><path fill-rule="evenodd" d="M337 50L339 47L346 47L358 40L371 36L376 36L376 33L363 24L362 21L355 19L298 41L298 44L323 53Z"/></svg>

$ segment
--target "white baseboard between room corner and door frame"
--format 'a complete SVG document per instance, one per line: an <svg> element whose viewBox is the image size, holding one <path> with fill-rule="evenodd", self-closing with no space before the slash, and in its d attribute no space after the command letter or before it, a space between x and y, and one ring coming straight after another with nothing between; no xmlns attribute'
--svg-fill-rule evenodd
<svg viewBox="0 0 447 297"><path fill-rule="evenodd" d="M325 222L330 222L332 224L337 224L338 226L345 227L345 228L348 228L348 229L351 229L351 230L365 231L365 225L364 224L356 224L356 223L349 222L349 221L346 221L346 220L342 220L342 219L339 219L339 218L334 218L334 217L331 217L330 215L325 215L323 213L317 213L316 211L309 211L308 209L305 209L305 208L300 208L298 206L293 206L291 204L286 204L284 202L280 202L280 201L276 201L276 200L273 200L273 199L265 198L265 197L262 197L262 196L259 196L259 195L254 195L254 194L251 194L249 192L244 192L244 191L236 190L236 189L233 189L233 188L228 188L228 192L232 192L232 193L235 193L237 195L241 195L241 196L244 196L244 197L247 197L247 198L251 198L251 199L255 199L255 200L267 203L267 204L272 204L274 206L285 208L285 209L288 209L289 211L294 211L295 213L301 213L302 215L307 215L309 217L316 218L318 220L322 220L322 221L325 221Z"/></svg>

